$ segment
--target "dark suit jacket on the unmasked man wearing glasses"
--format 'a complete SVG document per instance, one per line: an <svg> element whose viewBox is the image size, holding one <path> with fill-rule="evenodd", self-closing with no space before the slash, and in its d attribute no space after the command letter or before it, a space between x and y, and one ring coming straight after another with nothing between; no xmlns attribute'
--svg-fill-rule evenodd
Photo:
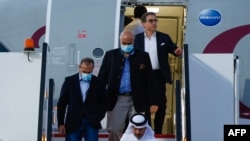
<svg viewBox="0 0 250 141"><path fill-rule="evenodd" d="M139 33L135 37L134 46L136 49L145 51L145 33ZM157 53L159 65L161 68L161 74L165 79L166 83L172 84L172 76L170 65L168 62L168 54L171 53L174 56L174 51L177 49L176 44L173 43L172 39L168 34L156 31L156 42L157 42Z"/></svg>

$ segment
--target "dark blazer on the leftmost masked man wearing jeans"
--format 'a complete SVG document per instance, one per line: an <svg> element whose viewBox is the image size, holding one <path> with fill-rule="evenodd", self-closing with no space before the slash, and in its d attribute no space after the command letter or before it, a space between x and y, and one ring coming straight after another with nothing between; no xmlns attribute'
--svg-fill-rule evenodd
<svg viewBox="0 0 250 141"><path fill-rule="evenodd" d="M79 73L66 77L57 103L58 126L65 125L66 133L74 132L82 124L84 114L92 127L102 128L106 98L105 84L96 76L92 75L85 102L82 100Z"/></svg>

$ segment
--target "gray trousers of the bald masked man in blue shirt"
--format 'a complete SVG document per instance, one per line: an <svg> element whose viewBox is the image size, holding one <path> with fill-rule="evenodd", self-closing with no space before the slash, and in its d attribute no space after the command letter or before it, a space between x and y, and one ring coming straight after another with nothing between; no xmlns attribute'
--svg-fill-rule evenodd
<svg viewBox="0 0 250 141"><path fill-rule="evenodd" d="M118 96L112 111L107 112L107 131L109 141L120 141L125 128L126 118L135 113L132 96Z"/></svg>

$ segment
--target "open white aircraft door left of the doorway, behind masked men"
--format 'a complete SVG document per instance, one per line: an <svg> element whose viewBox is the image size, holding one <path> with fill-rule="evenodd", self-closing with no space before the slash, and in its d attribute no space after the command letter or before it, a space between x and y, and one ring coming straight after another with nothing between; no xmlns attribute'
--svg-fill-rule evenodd
<svg viewBox="0 0 250 141"><path fill-rule="evenodd" d="M105 52L118 45L121 2L49 0L48 3L47 77L55 81L56 102L64 77L78 72L82 58L95 60L94 74L97 74Z"/></svg>

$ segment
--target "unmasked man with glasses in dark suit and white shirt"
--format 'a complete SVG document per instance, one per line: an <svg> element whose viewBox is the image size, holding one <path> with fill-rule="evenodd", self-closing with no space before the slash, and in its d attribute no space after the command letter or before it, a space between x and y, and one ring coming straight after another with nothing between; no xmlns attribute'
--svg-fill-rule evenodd
<svg viewBox="0 0 250 141"><path fill-rule="evenodd" d="M159 98L159 107L154 119L154 130L156 134L161 134L166 113L166 83L172 83L168 54L181 56L182 50L173 43L168 34L156 30L158 20L155 13L147 12L141 20L144 32L136 35L135 48L148 52L150 56L154 91Z"/></svg>

